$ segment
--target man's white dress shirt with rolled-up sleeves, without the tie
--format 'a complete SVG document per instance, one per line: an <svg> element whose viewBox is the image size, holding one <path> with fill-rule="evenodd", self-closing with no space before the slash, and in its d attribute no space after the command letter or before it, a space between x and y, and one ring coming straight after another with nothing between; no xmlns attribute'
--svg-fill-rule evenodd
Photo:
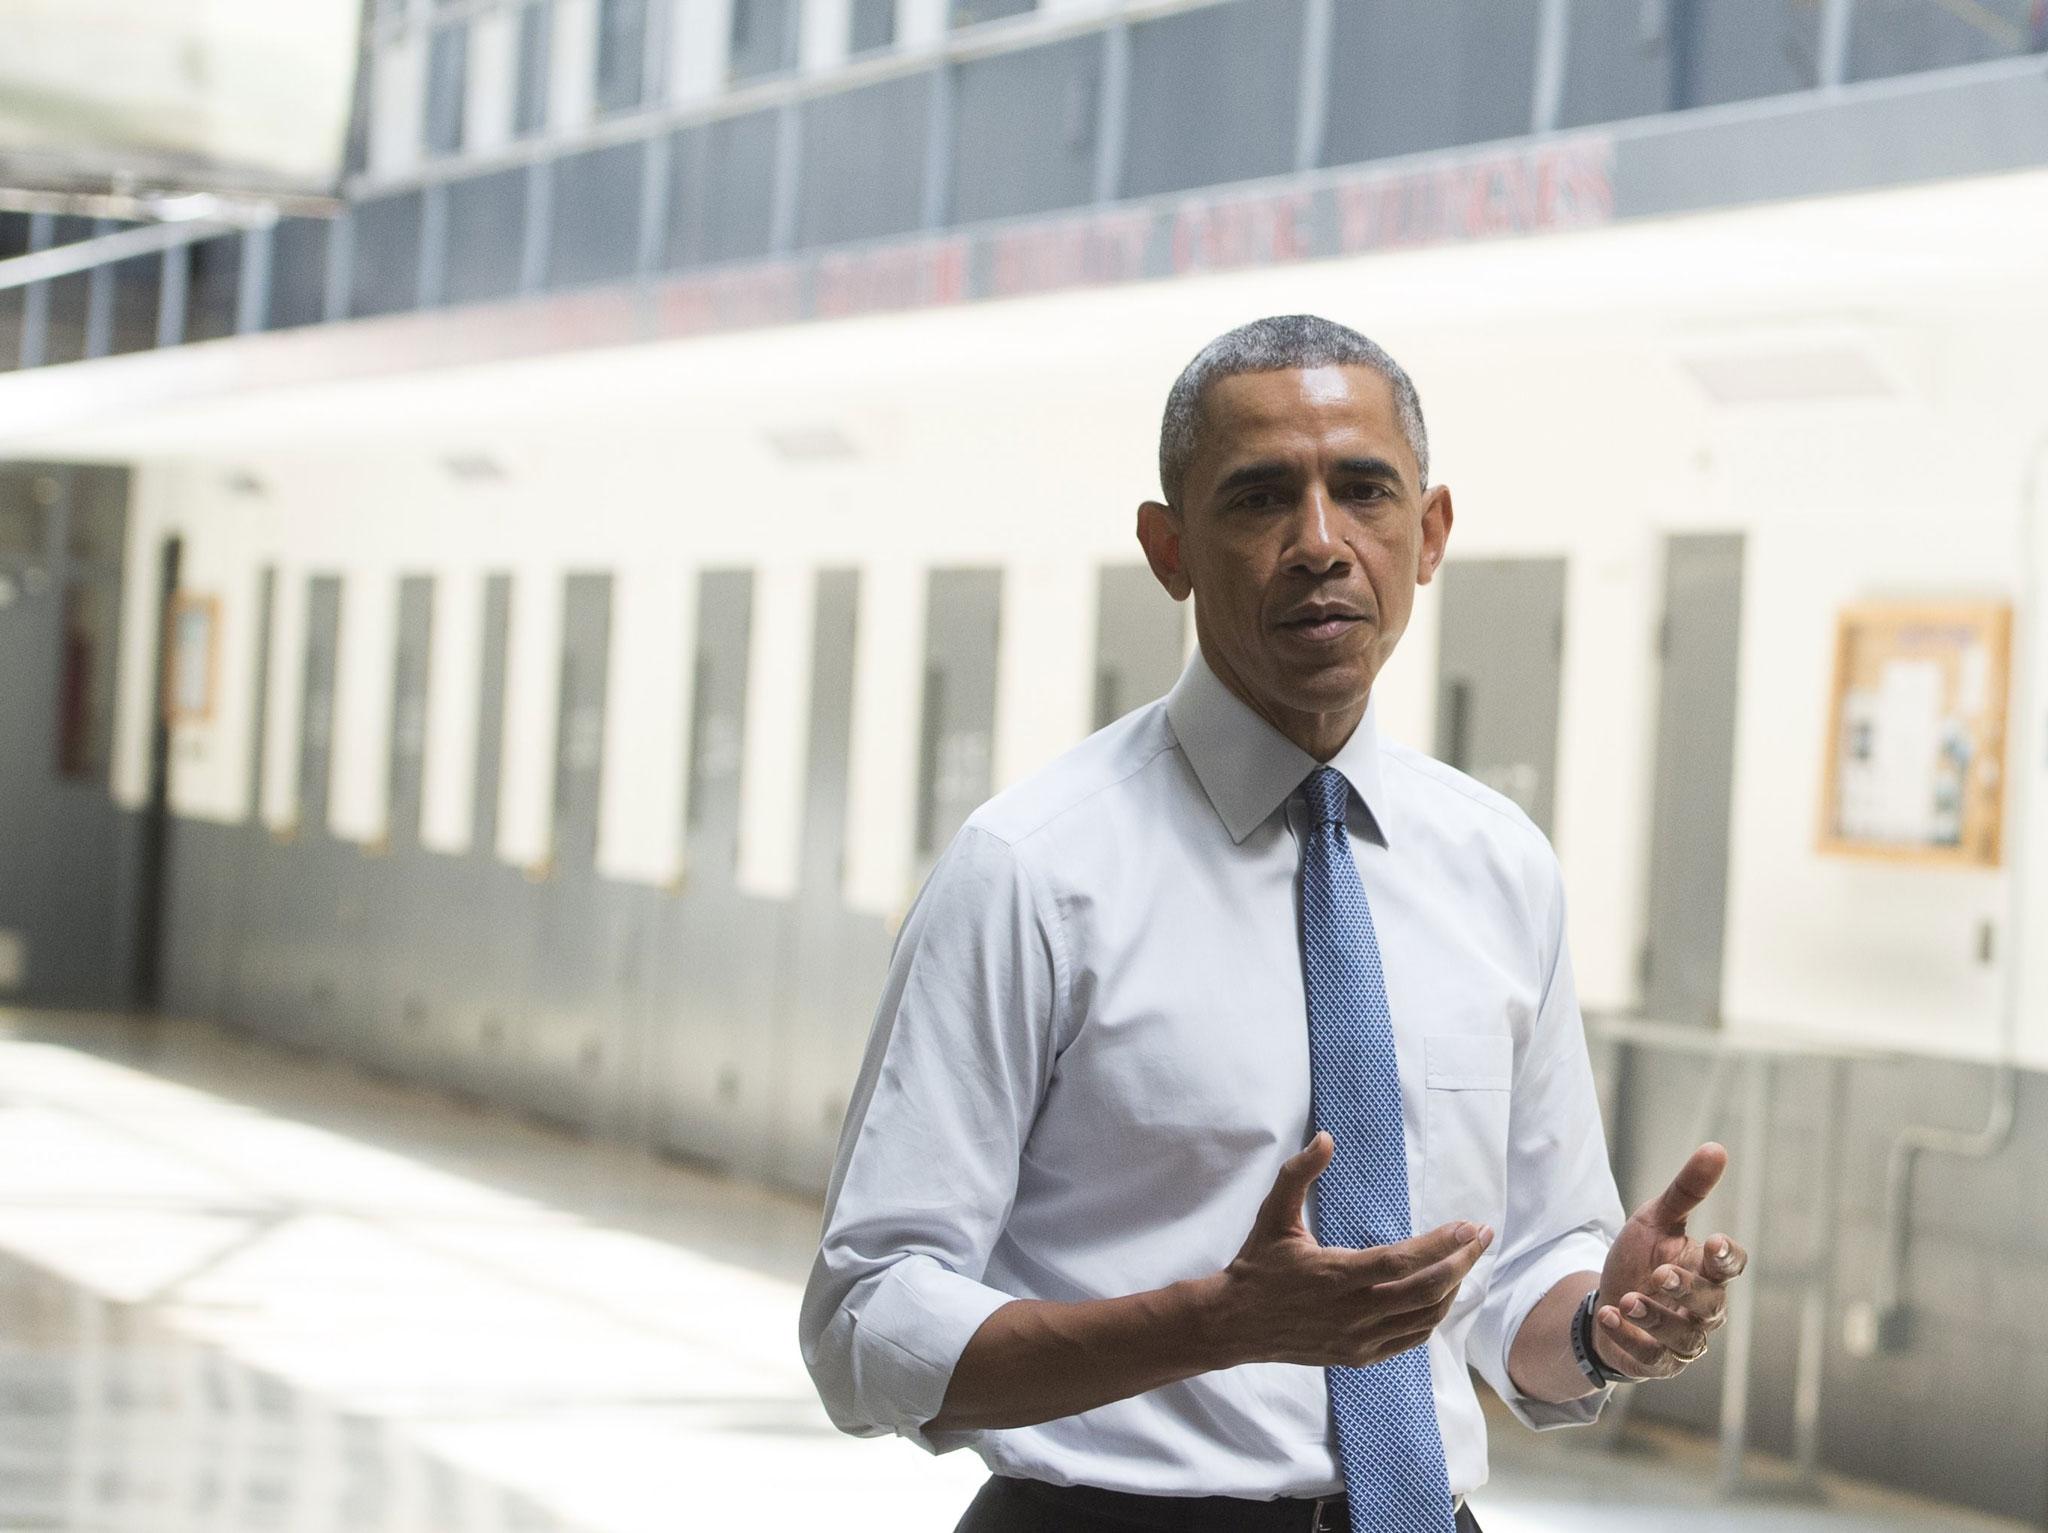
<svg viewBox="0 0 2048 1533"><path fill-rule="evenodd" d="M1413 1228L1497 1232L1430 1339L1466 1494L1487 1478L1468 1363L1530 1427L1591 1420L1606 1398L1544 1404L1507 1377L1522 1318L1597 1271L1622 1220L1563 882L1520 808L1382 743L1370 706L1331 765L1354 788L1386 972ZM897 935L803 1300L840 1429L969 1445L1053 1484L1341 1490L1323 1369L1296 1363L1038 1427L924 1431L993 1310L1219 1271L1309 1140L1296 872L1315 768L1196 653L1167 698L985 802L946 847Z"/></svg>

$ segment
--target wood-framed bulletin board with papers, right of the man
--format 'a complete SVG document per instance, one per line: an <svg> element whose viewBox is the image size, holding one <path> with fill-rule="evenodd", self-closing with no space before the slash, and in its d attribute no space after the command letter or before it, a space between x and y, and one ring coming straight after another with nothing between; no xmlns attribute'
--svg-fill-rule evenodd
<svg viewBox="0 0 2048 1533"><path fill-rule="evenodd" d="M2005 602L1843 608L1821 851L1999 866L2011 626Z"/></svg>

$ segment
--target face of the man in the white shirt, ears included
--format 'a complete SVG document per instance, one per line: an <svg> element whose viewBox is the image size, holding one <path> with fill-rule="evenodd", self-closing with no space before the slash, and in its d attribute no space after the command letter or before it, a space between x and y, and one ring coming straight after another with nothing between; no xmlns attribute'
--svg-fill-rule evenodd
<svg viewBox="0 0 2048 1533"><path fill-rule="evenodd" d="M1243 373L1202 397L1180 510L1139 510L1153 573L1194 594L1210 667L1315 753L1358 722L1444 559L1450 491L1419 481L1378 373Z"/></svg>

